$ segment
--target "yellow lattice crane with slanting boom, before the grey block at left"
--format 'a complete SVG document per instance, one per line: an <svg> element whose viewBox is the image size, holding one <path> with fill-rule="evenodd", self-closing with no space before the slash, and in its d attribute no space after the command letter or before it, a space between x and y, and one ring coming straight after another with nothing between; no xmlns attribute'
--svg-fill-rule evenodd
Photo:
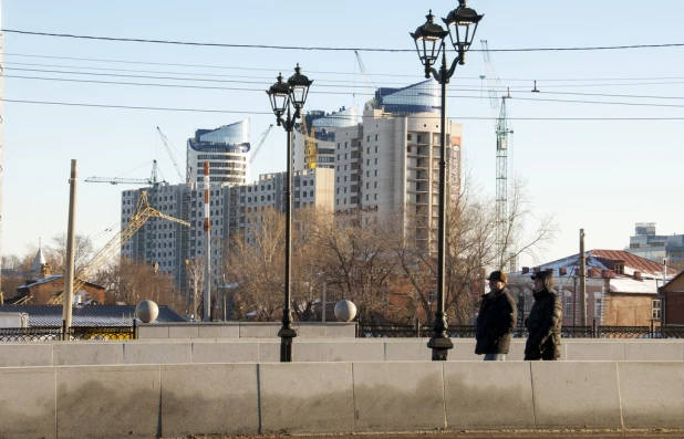
<svg viewBox="0 0 684 439"><path fill-rule="evenodd" d="M135 234L135 232L137 232L139 228L143 227L145 222L147 222L147 220L151 218L162 218L168 221L177 222L185 227L190 227L189 222L162 213L160 211L149 206L149 202L147 201L147 191L142 190L141 198L137 201L135 213L131 217L131 221L128 221L128 224L126 224L125 228L123 228L114 238L112 238L112 240L107 242L102 248L102 250L100 250L100 252L95 254L93 260L83 269L83 271L74 280L73 292L77 292L87 281L87 279L95 274L97 270L100 270L100 268L102 268L102 265L104 265L104 263L110 260L110 258L112 258L122 248L122 245L126 243ZM48 304L61 304L63 296L63 292L59 293L58 295L52 297L48 302Z"/></svg>

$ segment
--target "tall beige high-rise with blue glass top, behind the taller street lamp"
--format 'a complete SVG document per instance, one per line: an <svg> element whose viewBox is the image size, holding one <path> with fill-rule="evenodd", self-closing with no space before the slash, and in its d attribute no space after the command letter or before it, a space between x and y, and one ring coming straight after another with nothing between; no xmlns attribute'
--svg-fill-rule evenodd
<svg viewBox="0 0 684 439"><path fill-rule="evenodd" d="M439 206L441 118L435 82L380 88L366 104L363 123L335 129L335 201L340 213L361 213L406 224L404 234L436 249ZM463 126L447 121L447 180L460 189ZM432 231L431 231L432 230Z"/></svg>

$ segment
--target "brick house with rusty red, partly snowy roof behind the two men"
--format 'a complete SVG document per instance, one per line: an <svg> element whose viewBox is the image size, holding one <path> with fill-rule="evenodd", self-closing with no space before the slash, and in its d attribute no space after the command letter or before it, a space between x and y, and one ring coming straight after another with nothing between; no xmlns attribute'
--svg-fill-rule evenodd
<svg viewBox="0 0 684 439"><path fill-rule="evenodd" d="M587 258L587 322L591 325L647 326L660 322L662 302L657 295L664 265L621 250L590 250ZM509 275L509 289L519 303L520 322L529 315L533 299L530 275L553 271L553 292L560 295L563 325L580 324L579 254L545 263ZM667 276L680 274L667 268Z"/></svg>

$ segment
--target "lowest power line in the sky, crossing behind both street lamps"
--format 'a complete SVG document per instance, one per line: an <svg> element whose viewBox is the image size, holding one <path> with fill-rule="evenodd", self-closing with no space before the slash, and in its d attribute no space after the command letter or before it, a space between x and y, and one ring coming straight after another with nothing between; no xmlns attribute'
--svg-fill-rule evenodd
<svg viewBox="0 0 684 439"><path fill-rule="evenodd" d="M34 105L61 105L61 106L77 106L77 107L96 107L96 108L118 108L118 109L147 109L147 111L164 111L164 112L189 112L189 113L225 113L225 114L252 114L252 115L272 115L271 112L250 112L237 109L206 109L206 108L174 108L174 107L152 107L152 106L134 106L134 105L112 105L112 104L87 104L75 102L50 102L50 101L28 101L28 100L8 100L0 101L17 103L17 104L34 104ZM350 119L350 116L329 115L330 118ZM487 116L447 116L450 119L457 121L494 121L496 117ZM435 114L435 119L441 116ZM512 121L684 121L683 117L510 117Z"/></svg>

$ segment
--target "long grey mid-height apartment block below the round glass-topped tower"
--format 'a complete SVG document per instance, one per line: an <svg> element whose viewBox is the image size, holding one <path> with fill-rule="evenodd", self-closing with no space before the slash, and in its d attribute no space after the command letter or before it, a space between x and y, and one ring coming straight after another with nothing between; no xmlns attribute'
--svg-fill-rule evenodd
<svg viewBox="0 0 684 439"><path fill-rule="evenodd" d="M209 216L211 226L211 273L220 279L224 243L242 236L251 239L250 213L273 208L284 212L286 173L260 176L252 184L236 186L214 185L209 188ZM293 210L325 208L332 210L332 169L307 169L296 171L292 177ZM125 190L122 192L122 227L126 227L135 213L142 190L148 191L151 205L160 212L186 220L190 227L153 218L122 247L122 255L145 261L151 266L170 273L176 285L187 286L185 260L204 258L204 185L159 185L154 189Z"/></svg>

